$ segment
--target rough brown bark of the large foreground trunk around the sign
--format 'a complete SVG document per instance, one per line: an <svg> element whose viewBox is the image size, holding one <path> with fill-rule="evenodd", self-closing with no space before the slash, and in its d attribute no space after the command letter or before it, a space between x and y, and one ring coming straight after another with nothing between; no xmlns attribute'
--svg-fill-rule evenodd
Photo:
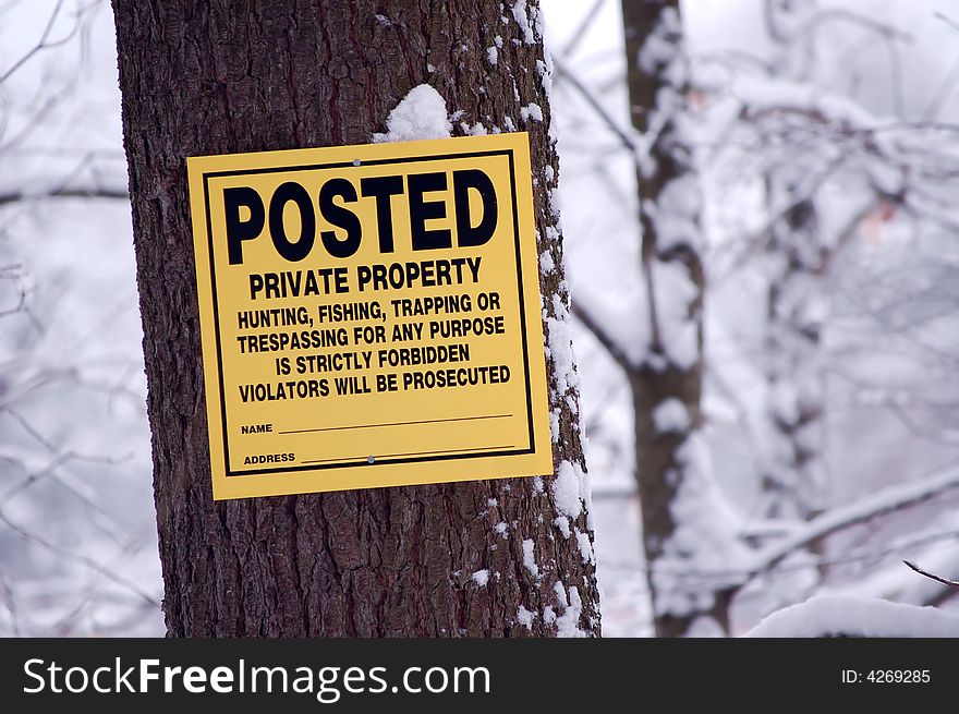
<svg viewBox="0 0 959 714"><path fill-rule="evenodd" d="M541 287L556 327L568 295L548 202L557 157L536 4L522 16L490 0L113 4L169 633L598 634L593 558L561 528L592 540L586 510L561 523L549 479L210 495L185 158L365 144L422 83L462 111L460 133L459 122L502 128L509 117L531 132L539 251L557 266ZM542 122L520 121L529 102ZM556 463L581 464L575 391L547 366ZM527 540L538 574L523 565ZM472 579L481 569L491 573L483 586Z"/></svg>

